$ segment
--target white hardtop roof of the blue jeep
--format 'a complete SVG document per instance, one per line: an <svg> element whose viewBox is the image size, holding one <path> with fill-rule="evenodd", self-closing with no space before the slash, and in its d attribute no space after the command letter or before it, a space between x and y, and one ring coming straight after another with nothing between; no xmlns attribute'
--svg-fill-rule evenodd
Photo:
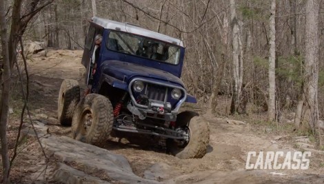
<svg viewBox="0 0 324 184"><path fill-rule="evenodd" d="M92 17L92 22L96 23L97 25L100 25L101 27L103 27L105 29L121 30L123 32L130 32L132 34L139 34L144 37L158 39L161 41L173 43L173 44L180 45L181 47L183 47L183 42L179 39L169 37L169 36L167 36L165 34L161 34L159 32L147 30L145 28L141 28L139 26L132 25L130 23L121 23L121 22L117 22L117 21L111 21L109 19L102 19L99 17Z"/></svg>

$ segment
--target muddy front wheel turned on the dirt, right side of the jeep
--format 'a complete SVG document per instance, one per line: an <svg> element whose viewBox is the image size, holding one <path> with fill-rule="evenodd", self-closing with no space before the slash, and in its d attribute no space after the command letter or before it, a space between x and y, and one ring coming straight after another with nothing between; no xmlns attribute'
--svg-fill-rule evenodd
<svg viewBox="0 0 324 184"><path fill-rule="evenodd" d="M167 139L170 154L180 159L198 159L206 154L210 141L209 125L195 112L181 112L176 116L175 130L189 134L189 141Z"/></svg>

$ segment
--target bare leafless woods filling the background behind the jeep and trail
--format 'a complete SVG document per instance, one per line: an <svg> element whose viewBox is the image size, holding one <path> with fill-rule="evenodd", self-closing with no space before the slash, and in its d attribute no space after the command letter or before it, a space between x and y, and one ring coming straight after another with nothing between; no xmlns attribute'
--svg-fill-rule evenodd
<svg viewBox="0 0 324 184"><path fill-rule="evenodd" d="M24 43L39 41L47 48L82 50L94 15L181 39L186 48L182 79L206 112L247 114L251 119L266 115L277 125L287 123L284 117L293 113L294 130L311 130L321 146L323 4L323 0L3 0L1 47L8 52L1 49L2 154L11 85L5 76L13 75L20 37ZM4 166L9 165L5 157Z"/></svg>

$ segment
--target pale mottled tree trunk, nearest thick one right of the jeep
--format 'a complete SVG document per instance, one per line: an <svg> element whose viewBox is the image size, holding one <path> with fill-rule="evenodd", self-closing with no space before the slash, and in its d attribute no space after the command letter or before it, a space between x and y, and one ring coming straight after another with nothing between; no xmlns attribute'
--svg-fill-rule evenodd
<svg viewBox="0 0 324 184"><path fill-rule="evenodd" d="M235 0L230 0L230 13L232 24L232 42L233 42L233 95L231 104L231 113L238 112L241 100L241 88L243 82L243 49L241 43L241 34L239 32L239 22L236 19Z"/></svg>

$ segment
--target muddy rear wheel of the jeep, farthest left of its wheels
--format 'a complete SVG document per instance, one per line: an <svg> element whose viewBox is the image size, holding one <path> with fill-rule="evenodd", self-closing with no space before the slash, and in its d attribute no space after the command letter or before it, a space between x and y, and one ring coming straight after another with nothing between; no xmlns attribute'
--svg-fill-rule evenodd
<svg viewBox="0 0 324 184"><path fill-rule="evenodd" d="M64 79L59 90L57 118L61 125L70 126L73 112L80 101L80 86L78 81Z"/></svg>

